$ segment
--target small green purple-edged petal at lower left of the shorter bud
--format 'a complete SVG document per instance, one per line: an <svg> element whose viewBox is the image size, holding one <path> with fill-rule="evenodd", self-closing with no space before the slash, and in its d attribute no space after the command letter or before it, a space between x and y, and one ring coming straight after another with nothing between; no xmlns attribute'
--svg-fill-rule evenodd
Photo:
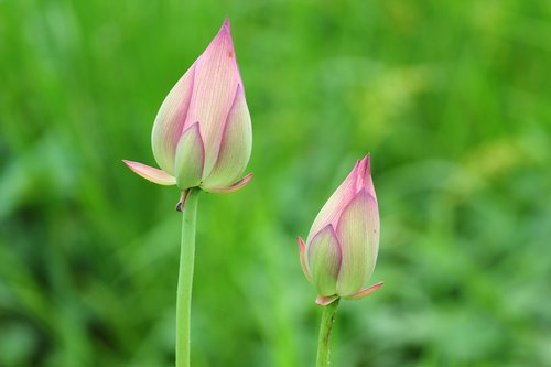
<svg viewBox="0 0 551 367"><path fill-rule="evenodd" d="M306 266L312 283L320 296L336 293L341 248L333 226L328 225L317 233L306 248Z"/></svg>

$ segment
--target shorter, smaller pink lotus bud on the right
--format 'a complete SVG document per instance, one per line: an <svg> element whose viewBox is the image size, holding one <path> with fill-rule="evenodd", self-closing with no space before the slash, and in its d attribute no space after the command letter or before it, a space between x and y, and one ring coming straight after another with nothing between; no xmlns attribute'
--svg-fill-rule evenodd
<svg viewBox="0 0 551 367"><path fill-rule="evenodd" d="M369 155L356 163L324 205L306 242L299 237L299 247L302 269L317 290L318 304L339 296L358 300L382 285L365 288L379 249L379 209Z"/></svg>

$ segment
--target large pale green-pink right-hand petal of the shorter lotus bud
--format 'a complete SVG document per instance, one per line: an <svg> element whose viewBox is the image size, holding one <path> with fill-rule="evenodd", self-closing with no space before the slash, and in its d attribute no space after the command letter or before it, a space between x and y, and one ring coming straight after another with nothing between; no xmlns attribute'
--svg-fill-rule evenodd
<svg viewBox="0 0 551 367"><path fill-rule="evenodd" d="M344 209L337 225L343 261L337 294L348 296L369 280L379 248L379 212L377 202L365 190Z"/></svg>

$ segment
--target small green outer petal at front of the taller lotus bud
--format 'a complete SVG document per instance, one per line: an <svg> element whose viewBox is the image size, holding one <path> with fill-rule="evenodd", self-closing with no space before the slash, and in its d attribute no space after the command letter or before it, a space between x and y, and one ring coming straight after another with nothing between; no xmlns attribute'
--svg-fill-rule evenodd
<svg viewBox="0 0 551 367"><path fill-rule="evenodd" d="M180 190L187 190L201 184L205 149L201 138L199 123L193 123L182 133L176 148L175 176Z"/></svg>

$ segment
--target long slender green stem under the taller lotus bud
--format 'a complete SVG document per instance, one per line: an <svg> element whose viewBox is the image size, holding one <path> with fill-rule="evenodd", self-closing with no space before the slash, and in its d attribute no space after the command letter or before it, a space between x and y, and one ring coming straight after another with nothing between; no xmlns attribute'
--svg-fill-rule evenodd
<svg viewBox="0 0 551 367"><path fill-rule="evenodd" d="M198 188L192 188L182 216L182 244L176 299L176 367L190 367L190 326L192 316L193 261Z"/></svg>

